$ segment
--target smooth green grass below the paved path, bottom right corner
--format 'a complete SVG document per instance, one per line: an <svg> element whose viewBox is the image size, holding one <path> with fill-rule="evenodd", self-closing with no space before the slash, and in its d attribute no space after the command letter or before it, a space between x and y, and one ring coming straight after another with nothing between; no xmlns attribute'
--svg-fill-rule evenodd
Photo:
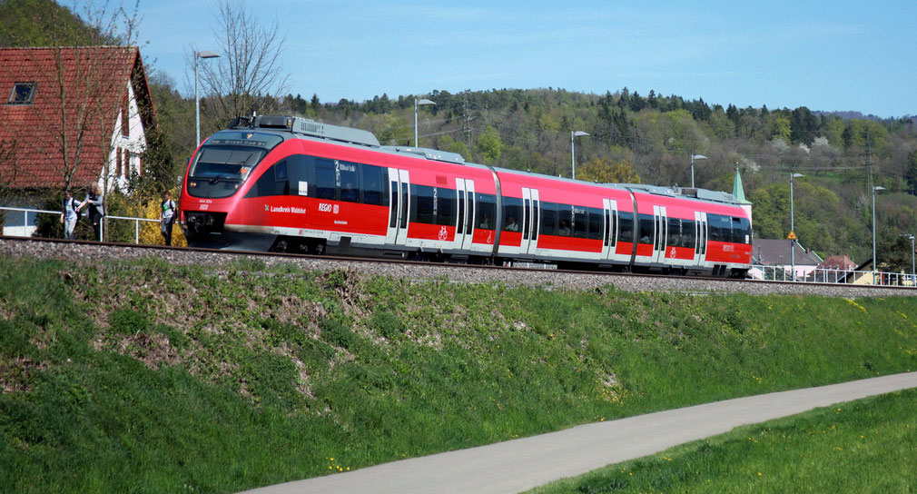
<svg viewBox="0 0 917 494"><path fill-rule="evenodd" d="M917 390L736 429L530 494L917 490Z"/></svg>

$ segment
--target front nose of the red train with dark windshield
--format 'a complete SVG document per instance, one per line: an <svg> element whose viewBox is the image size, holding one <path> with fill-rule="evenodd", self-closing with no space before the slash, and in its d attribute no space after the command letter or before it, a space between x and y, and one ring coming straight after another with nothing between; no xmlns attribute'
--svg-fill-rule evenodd
<svg viewBox="0 0 917 494"><path fill-rule="evenodd" d="M237 121L238 122L238 121ZM207 138L188 164L179 225L193 247L267 250L276 236L251 231L242 201L283 153L282 133L230 128Z"/></svg>

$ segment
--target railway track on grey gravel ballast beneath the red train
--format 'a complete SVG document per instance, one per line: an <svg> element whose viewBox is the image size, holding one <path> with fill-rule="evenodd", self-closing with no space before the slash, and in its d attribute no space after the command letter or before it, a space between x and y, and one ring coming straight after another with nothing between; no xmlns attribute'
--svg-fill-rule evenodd
<svg viewBox="0 0 917 494"><path fill-rule="evenodd" d="M113 258L131 259L152 256L180 265L217 267L238 261L238 259L259 259L265 265L289 263L305 270L347 269L368 275L392 276L409 280L494 283L506 286L541 287L549 290L601 291L613 286L624 291L669 291L694 295L742 292L756 295L798 294L845 298L917 296L917 289L899 286L731 280L580 269L542 269L525 266L481 266L393 258L316 256L198 247L138 246L116 242L14 236L0 236L0 254L23 258L60 258L77 262L102 262Z"/></svg>

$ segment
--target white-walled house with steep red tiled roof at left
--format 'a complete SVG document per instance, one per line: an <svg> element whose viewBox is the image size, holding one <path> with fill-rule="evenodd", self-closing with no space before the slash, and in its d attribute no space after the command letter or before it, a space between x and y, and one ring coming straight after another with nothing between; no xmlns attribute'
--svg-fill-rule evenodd
<svg viewBox="0 0 917 494"><path fill-rule="evenodd" d="M0 49L0 188L22 192L15 203L92 184L124 190L143 173L154 125L137 47Z"/></svg>

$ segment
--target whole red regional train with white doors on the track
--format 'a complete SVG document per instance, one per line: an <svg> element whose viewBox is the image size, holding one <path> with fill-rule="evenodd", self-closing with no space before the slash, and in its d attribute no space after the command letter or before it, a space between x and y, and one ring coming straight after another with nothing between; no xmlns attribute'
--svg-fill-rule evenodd
<svg viewBox="0 0 917 494"><path fill-rule="evenodd" d="M731 194L589 183L468 163L291 116L238 118L189 163L189 244L744 276Z"/></svg>

